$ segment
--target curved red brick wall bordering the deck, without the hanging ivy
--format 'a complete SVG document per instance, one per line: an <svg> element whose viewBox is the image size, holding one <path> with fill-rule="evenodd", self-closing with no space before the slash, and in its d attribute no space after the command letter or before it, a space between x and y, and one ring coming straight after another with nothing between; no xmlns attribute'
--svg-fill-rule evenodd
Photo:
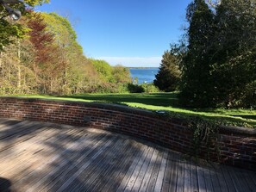
<svg viewBox="0 0 256 192"><path fill-rule="evenodd" d="M0 117L95 127L151 140L178 152L191 152L192 132L184 121L146 110L92 102L0 97ZM222 127L217 142L222 163L256 170L255 130ZM215 152L210 156L216 157Z"/></svg>

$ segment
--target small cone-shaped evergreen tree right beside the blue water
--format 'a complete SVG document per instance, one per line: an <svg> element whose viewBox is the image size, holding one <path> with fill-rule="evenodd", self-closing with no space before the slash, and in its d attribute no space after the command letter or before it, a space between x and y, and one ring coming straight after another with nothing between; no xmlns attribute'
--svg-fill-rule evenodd
<svg viewBox="0 0 256 192"><path fill-rule="evenodd" d="M159 67L159 72L155 76L153 84L165 92L178 89L181 72L179 71L180 53L178 46L171 46L170 51L165 51Z"/></svg>

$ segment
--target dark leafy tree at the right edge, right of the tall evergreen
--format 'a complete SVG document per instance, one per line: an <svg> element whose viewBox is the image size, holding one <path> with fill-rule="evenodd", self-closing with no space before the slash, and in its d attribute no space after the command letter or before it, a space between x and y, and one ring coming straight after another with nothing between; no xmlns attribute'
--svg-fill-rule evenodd
<svg viewBox="0 0 256 192"><path fill-rule="evenodd" d="M216 7L215 26L215 101L225 107L255 107L255 1L222 0Z"/></svg>

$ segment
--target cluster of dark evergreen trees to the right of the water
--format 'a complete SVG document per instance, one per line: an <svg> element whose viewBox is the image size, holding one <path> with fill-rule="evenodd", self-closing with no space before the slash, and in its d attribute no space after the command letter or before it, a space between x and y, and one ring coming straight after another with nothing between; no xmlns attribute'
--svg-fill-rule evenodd
<svg viewBox="0 0 256 192"><path fill-rule="evenodd" d="M194 0L184 38L164 53L154 84L187 107L256 107L256 3Z"/></svg>

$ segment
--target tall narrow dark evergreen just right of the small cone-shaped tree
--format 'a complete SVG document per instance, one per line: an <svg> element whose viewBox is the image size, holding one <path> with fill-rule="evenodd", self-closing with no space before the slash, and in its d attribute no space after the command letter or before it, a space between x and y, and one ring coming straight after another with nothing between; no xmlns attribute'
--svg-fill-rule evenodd
<svg viewBox="0 0 256 192"><path fill-rule="evenodd" d="M186 13L190 26L187 29L187 52L182 61L181 102L190 107L213 105L214 91L209 58L212 50L214 14L203 0L194 0Z"/></svg>

